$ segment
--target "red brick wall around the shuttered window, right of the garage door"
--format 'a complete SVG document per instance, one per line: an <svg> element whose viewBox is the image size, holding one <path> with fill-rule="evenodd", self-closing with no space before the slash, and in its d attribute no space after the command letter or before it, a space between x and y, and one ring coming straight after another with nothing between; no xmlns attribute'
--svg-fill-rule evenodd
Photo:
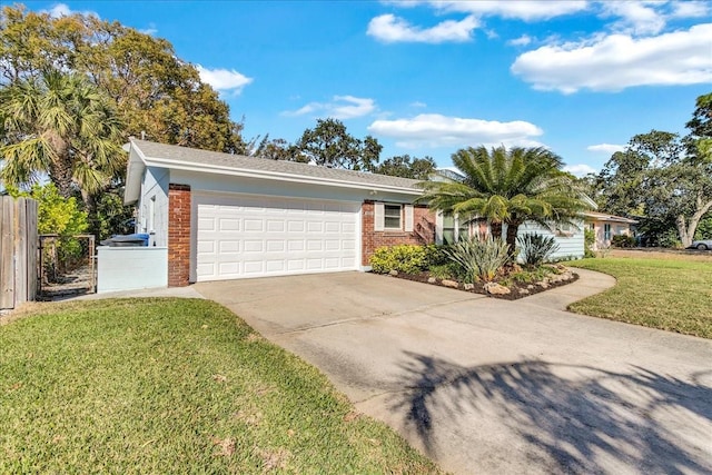
<svg viewBox="0 0 712 475"><path fill-rule="evenodd" d="M426 206L414 206L413 231L375 231L374 201L362 205L362 265L369 266L374 250L383 246L399 244L433 244L435 243L435 212ZM405 219L402 219L405 222Z"/></svg>

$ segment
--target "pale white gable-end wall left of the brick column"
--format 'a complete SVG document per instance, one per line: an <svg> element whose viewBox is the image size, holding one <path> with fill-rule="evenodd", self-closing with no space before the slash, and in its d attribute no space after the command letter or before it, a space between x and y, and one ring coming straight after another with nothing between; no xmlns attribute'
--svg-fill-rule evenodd
<svg viewBox="0 0 712 475"><path fill-rule="evenodd" d="M144 171L141 197L138 202L138 232L150 235L149 247L168 246L168 184L165 168L147 167Z"/></svg>

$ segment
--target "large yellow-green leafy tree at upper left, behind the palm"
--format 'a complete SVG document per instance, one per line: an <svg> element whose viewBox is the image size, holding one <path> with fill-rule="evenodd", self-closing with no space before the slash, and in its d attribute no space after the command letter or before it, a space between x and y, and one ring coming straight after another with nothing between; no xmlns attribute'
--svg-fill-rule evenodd
<svg viewBox="0 0 712 475"><path fill-rule="evenodd" d="M52 18L4 7L0 13L0 75L13 83L43 71L86 75L115 102L123 140L149 140L246 154L243 123L180 60L170 42L118 22L75 13Z"/></svg>

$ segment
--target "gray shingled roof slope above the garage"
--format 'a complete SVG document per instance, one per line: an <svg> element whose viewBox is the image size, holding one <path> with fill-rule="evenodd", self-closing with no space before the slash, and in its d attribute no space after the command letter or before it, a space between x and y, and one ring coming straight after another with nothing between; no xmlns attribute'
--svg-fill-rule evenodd
<svg viewBox="0 0 712 475"><path fill-rule="evenodd" d="M146 140L131 139L131 142L144 154L146 159L175 160L192 166L224 167L234 170L266 171L288 174L295 177L322 178L365 186L384 186L421 189L418 180L388 177L386 175L367 174L363 171L342 170L315 165L297 164L294 161L269 160L266 158L246 157L218 151L207 151L175 145L156 144Z"/></svg>

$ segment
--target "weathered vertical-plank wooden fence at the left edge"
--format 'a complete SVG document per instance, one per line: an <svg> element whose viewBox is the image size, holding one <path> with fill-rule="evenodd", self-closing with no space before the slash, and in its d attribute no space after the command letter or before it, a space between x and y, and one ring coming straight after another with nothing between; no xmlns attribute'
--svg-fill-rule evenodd
<svg viewBox="0 0 712 475"><path fill-rule="evenodd" d="M37 296L37 201L0 196L0 309Z"/></svg>

